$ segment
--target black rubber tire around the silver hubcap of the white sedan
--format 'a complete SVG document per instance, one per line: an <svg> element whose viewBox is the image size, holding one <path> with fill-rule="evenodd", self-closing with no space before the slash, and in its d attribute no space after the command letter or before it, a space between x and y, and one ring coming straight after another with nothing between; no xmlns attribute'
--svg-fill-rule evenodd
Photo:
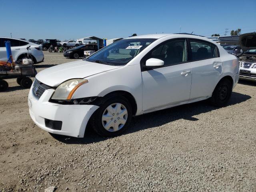
<svg viewBox="0 0 256 192"><path fill-rule="evenodd" d="M121 124L118 125L118 127L120 126L121 128L117 131L113 131L114 128L110 128L110 131L106 130L103 126L103 121L102 121L102 116L103 113L105 112L106 108L108 108L108 106L110 106L111 104L122 104L122 106L124 106L127 110L127 117L126 117L126 122L125 124L122 126ZM117 115L117 114L116 114ZM116 116L117 118L117 116ZM128 102L128 100L126 100L126 98L122 97L122 96L118 96L118 97L112 97L112 98L108 98L106 99L103 104L100 106L100 108L98 108L98 110L96 110L96 112L94 112L92 118L91 118L91 124L92 124L92 128L94 129L94 131L99 134L100 136L103 137L113 137L113 136L117 136L119 134L121 134L122 132L124 132L129 124L130 121L132 119L132 107L130 105L130 103ZM111 119L112 121L113 118ZM116 121L117 122L117 119ZM118 123L118 122L117 122ZM112 129L112 131L111 131Z"/></svg>

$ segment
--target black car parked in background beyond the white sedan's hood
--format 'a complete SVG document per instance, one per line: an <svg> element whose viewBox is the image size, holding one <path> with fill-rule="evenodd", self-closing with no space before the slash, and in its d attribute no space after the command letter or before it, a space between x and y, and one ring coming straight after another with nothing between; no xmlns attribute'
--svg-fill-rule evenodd
<svg viewBox="0 0 256 192"><path fill-rule="evenodd" d="M77 46L76 48L66 50L63 53L63 55L64 57L78 59L84 56L84 51L98 51L98 45L96 44L80 45L80 46Z"/></svg>

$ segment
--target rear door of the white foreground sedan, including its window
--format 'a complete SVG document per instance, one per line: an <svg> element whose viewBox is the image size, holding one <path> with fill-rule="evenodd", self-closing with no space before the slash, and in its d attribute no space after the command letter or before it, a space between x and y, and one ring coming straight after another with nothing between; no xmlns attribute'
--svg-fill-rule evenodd
<svg viewBox="0 0 256 192"><path fill-rule="evenodd" d="M192 64L190 99L210 96L220 80L222 61L218 48L210 42L189 39L189 60Z"/></svg>

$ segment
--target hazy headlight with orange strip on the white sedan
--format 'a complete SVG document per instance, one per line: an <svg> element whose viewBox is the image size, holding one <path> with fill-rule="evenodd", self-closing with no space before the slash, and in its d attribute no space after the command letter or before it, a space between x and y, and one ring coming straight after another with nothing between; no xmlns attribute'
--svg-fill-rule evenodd
<svg viewBox="0 0 256 192"><path fill-rule="evenodd" d="M88 83L86 79L71 79L60 84L54 94L52 95L52 99L55 100L70 100L74 92L80 87L82 84Z"/></svg>

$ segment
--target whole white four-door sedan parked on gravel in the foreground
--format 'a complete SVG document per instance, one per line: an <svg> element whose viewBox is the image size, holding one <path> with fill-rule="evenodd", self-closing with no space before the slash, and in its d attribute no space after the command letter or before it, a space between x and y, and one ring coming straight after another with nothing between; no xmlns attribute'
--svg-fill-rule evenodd
<svg viewBox="0 0 256 192"><path fill-rule="evenodd" d="M101 136L116 136L129 128L132 116L208 98L225 106L238 69L236 56L208 38L133 36L39 72L29 112L53 134L83 137L90 122Z"/></svg>

